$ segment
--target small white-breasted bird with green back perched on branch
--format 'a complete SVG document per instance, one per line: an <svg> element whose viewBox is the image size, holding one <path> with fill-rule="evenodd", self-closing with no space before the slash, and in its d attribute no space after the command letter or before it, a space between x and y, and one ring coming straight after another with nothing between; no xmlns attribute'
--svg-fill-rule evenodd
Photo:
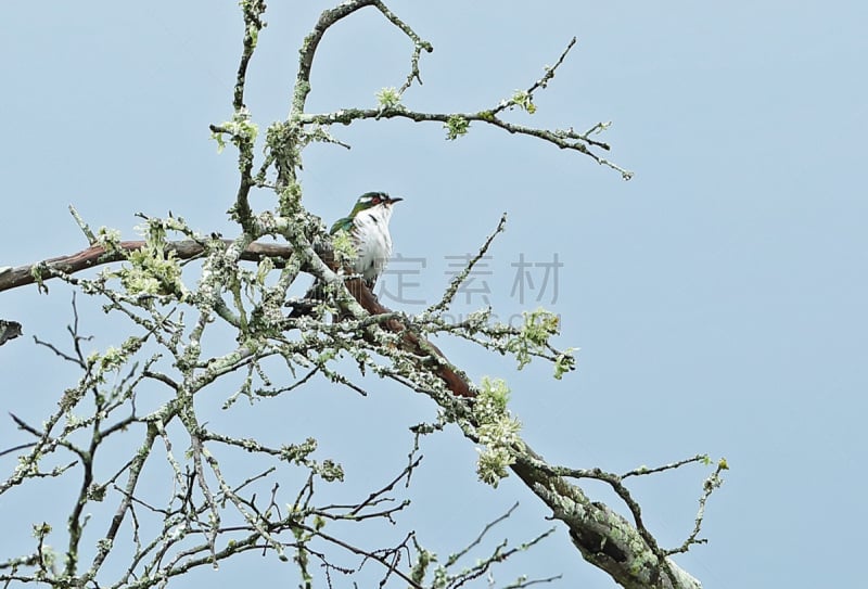
<svg viewBox="0 0 868 589"><path fill-rule="evenodd" d="M365 280L370 290L373 290L376 279L383 273L386 261L392 256L388 221L392 219L393 205L403 200L400 196L392 197L385 192L366 192L358 197L349 215L334 221L329 231L331 235L335 235L339 231L349 233L356 249L353 271ZM290 317L309 315L310 302L321 298L317 296L320 286L315 281L305 295L306 303L293 304L295 309Z"/></svg>

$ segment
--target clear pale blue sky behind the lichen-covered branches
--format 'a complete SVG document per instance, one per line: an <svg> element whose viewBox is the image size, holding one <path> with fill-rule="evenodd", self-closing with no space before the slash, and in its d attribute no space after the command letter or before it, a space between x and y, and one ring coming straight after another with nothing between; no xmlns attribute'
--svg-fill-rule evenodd
<svg viewBox="0 0 868 589"><path fill-rule="evenodd" d="M263 129L288 113L301 38L329 5L271 4L247 101ZM306 205L331 222L361 192L405 196L392 234L396 252L425 260L408 278L419 285L405 292L425 303L449 281L448 256L474 252L508 212L485 268L490 274L474 284L490 291L503 318L540 304L560 313L559 343L580 347L577 372L556 382L547 366L516 373L513 362L461 343L438 345L473 379L508 380L525 439L553 463L614 472L698 452L725 456L731 470L709 503L710 543L678 559L706 588L864 582L864 3L390 5L435 48L422 59L424 86L406 94L414 110L492 107L538 79L578 37L537 94L537 114L510 118L576 129L612 120L602 137L613 148L607 156L636 177L624 182L579 154L478 125L447 142L438 125L365 123L334 129L350 151L305 152ZM139 222L135 213L168 210L203 232L234 235L225 215L237 187L234 154L216 153L207 126L231 114L241 30L228 1L3 3L0 266L82 248L68 203L93 227L118 228L127 239ZM342 23L318 53L310 110L374 105L380 88L404 80L410 49L372 9ZM257 206L270 204L267 194L257 196ZM512 267L522 255L534 264L557 255L557 290L549 282L539 292L538 266L535 290L526 283L522 300ZM395 287L397 278L390 280ZM3 409L34 423L76 379L29 340L61 343L68 300L62 284L50 296L35 286L0 296L0 317L21 321L28 335L0 349ZM456 311L483 304L474 294L459 298ZM82 307L98 331L98 305ZM94 348L123 338L98 335ZM433 419L435 408L392 384L357 381L368 398L319 382L292 399L240 404L231 415L214 409L210 422L276 443L318 435L318 456L343 460L350 488L369 489L367 481L385 482L400 469L407 426ZM0 446L23 440L11 421L0 422ZM496 539L523 541L549 525L514 479L496 490L474 481L475 450L455 428L425 439L423 453L407 521L418 522L431 549L459 548L516 500ZM0 468L8 476L14 460ZM709 472L693 468L635 485L664 546L691 529ZM68 482L67 492L76 488ZM621 509L604 489L587 488ZM68 512L72 496L43 497L0 500L1 527L18 534L4 532L1 554L20 548L31 522ZM55 524L63 528L62 520ZM240 563L178 586L296 582L291 564L272 561L247 561L254 578ZM562 527L496 575L502 585L522 572L563 574L562 587L612 586L578 559Z"/></svg>

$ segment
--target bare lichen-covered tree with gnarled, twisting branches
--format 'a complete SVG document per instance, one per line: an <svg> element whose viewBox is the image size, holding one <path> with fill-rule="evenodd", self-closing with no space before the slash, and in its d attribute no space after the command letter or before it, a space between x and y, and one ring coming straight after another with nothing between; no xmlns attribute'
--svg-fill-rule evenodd
<svg viewBox="0 0 868 589"><path fill-rule="evenodd" d="M310 74L323 34L365 8L378 11L387 25L407 37L411 50L406 79L399 87L382 89L376 107L308 112ZM490 309L458 323L446 318L459 287L503 229L506 217L441 299L423 312L408 315L380 304L366 283L343 265L353 255L347 244L333 242L319 219L302 205L297 177L302 152L316 142L343 145L333 127L365 119L435 123L451 140L472 125L487 125L575 151L628 179L630 172L601 156L609 150L599 139L607 124L579 132L523 126L502 116L507 111L535 111L536 93L554 77L575 39L539 79L497 104L467 113L417 112L401 99L414 84L421 84L420 61L432 51L432 44L384 2L347 0L326 10L304 39L289 116L268 127L265 156L257 157L258 126L245 106L245 84L265 27L266 7L259 0L242 0L241 10L243 50L233 113L229 120L210 128L221 149L228 142L238 151L240 179L230 214L239 235L202 234L182 218L169 215L143 218L144 240L122 241L116 231L92 230L72 209L88 248L0 269L0 290L33 283L44 289L46 281L62 280L77 293L102 300L105 310L123 319L128 330L116 346L86 354L87 336L74 300L71 343L37 340L60 360L74 363L80 377L41 423L11 417L30 439L0 454L17 456L16 466L0 478L0 495L56 478L64 482L62 488L71 494L73 507L65 530L37 523L34 538L22 539L20 553L0 555L0 580L4 586L162 587L196 567L216 566L255 551L292 559L305 587L331 587L336 575L355 577L362 566L376 568L382 585L422 588L460 587L474 579L485 582L493 567L536 545L551 529L520 545L497 545L474 565L463 567L460 559L478 550L500 520L442 561L411 529L385 547L372 546L373 539L360 545L341 535L348 525L373 526L375 530L378 523L399 523L407 501L394 497L397 489L409 486L419 468L420 436L454 425L482 449L477 462L482 483L497 486L510 471L514 473L550 509L551 517L569 529L582 558L614 582L629 588L700 587L672 556L704 541L700 528L705 501L722 484L725 460L713 463L706 456L693 456L622 474L550 464L521 437L520 424L508 408L506 383L470 382L461 367L430 342L432 335L448 334L492 353L511 355L520 368L532 360L550 362L556 379L573 369L572 350L551 343L558 333L558 318L551 312L528 311L520 326L498 323ZM273 206L255 210L250 202L253 191L272 194ZM276 242L264 243L266 238ZM98 266L105 268L89 274L91 278L79 273ZM329 297L311 316L293 317L288 312L288 291L303 273L326 284ZM329 316L333 320L328 320ZM2 329L0 344L21 332L13 321L3 321ZM232 411L238 399L286 395L315 375L367 394L337 362L342 358L350 359L360 373L395 381L439 407L436 421L412 427L416 444L406 465L374 489L360 492L355 501L333 503L316 492L319 483L339 482L344 476L337 461L316 458L317 440L268 445L255 435L237 437L204 422L197 410L197 399L218 385L221 390L232 387L225 402L225 409ZM118 446L128 448L128 456L106 464L103 454ZM235 451L252 457L248 468L229 460ZM695 527L680 546L664 548L646 527L639 503L625 482L692 463L712 465L700 494ZM226 469L227 464L231 468ZM294 488L281 486L288 476L298 482ZM578 486L588 478L608 484L628 517L591 501ZM95 542L92 534L98 535ZM372 532L371 538L375 537ZM344 564L336 554L355 561ZM520 578L508 587L552 580L554 577Z"/></svg>

